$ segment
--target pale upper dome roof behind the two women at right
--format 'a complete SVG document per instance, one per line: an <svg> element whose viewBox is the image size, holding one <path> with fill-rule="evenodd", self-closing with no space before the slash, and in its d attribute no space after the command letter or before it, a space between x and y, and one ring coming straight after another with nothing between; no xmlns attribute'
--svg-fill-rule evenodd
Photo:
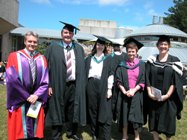
<svg viewBox="0 0 187 140"><path fill-rule="evenodd" d="M177 28L166 24L151 24L134 30L128 36L151 36L151 35L169 35L175 37L187 38L187 34Z"/></svg>

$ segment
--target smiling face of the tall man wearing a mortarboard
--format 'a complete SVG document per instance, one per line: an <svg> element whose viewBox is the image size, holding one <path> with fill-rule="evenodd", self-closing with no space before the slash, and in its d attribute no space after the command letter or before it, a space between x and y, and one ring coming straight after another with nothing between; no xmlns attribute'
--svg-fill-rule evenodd
<svg viewBox="0 0 187 140"><path fill-rule="evenodd" d="M67 29L63 29L62 30L62 33L61 33L61 36L63 38L63 41L66 43L66 44L69 44L72 42L72 39L73 39L73 35L74 33L67 30Z"/></svg>

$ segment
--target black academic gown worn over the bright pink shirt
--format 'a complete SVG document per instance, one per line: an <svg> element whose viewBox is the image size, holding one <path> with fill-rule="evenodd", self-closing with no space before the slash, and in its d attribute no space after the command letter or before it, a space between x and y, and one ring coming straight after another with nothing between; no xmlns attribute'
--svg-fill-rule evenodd
<svg viewBox="0 0 187 140"><path fill-rule="evenodd" d="M126 90L129 90L127 68L123 64L119 65L116 70L115 82L120 82ZM145 63L140 60L139 63L139 75L136 81L136 85L145 84ZM134 129L142 127L143 119L143 89L135 93L131 97L125 96L120 90L118 90L116 98L116 116L119 123L119 130L121 131L124 125L129 123L133 124ZM131 130L132 131L132 130Z"/></svg>

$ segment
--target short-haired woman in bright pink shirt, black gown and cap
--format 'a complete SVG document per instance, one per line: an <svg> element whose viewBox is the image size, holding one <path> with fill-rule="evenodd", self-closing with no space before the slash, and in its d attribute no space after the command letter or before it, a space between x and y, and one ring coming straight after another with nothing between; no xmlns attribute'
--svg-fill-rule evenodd
<svg viewBox="0 0 187 140"><path fill-rule="evenodd" d="M143 46L134 38L125 40L127 60L117 67L115 81L119 88L117 97L117 119L122 140L128 139L128 131L133 131L135 140L140 140L143 126L143 91L145 86L145 63L137 58L138 49Z"/></svg>

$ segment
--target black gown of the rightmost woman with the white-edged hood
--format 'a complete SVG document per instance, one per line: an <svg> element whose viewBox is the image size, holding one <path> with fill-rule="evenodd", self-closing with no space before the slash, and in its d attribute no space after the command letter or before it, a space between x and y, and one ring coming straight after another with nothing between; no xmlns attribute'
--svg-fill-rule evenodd
<svg viewBox="0 0 187 140"><path fill-rule="evenodd" d="M157 60L158 61L158 60ZM177 62L179 59L175 56L168 56L167 62ZM146 64L146 83L147 86L157 87L158 67L153 66L149 61ZM175 72L172 67L164 68L162 95L167 94L171 84L174 84L175 90L169 99L163 102L148 99L149 130L164 133L168 136L175 135L176 118L181 118L183 108L183 92L181 76Z"/></svg>

